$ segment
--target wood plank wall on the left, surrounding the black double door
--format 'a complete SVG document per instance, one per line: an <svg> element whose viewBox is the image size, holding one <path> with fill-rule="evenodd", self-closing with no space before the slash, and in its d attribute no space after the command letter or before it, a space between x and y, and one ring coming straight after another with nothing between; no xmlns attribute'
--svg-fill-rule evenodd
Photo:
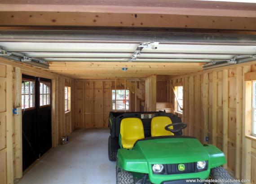
<svg viewBox="0 0 256 184"><path fill-rule="evenodd" d="M73 112L65 114L62 94L65 82L71 83L72 90L72 79L0 58L0 184L13 184L14 179L22 177L22 115L12 112L13 107L21 107L22 74L52 79L53 147L61 136L74 130Z"/></svg>

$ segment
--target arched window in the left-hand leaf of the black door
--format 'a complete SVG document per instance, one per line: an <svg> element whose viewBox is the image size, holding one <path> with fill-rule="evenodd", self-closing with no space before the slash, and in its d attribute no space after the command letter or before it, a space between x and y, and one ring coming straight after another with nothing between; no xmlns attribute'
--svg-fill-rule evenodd
<svg viewBox="0 0 256 184"><path fill-rule="evenodd" d="M35 107L35 82L22 80L22 109Z"/></svg>

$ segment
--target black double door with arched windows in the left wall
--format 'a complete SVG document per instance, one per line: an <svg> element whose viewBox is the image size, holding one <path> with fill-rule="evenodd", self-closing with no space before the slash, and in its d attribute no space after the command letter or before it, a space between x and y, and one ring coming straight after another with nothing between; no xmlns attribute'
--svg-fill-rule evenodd
<svg viewBox="0 0 256 184"><path fill-rule="evenodd" d="M22 75L23 171L52 147L51 80Z"/></svg>

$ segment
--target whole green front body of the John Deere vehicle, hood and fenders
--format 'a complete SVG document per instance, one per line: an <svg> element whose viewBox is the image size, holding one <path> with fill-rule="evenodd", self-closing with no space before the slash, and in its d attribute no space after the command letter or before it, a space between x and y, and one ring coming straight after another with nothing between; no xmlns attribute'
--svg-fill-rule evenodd
<svg viewBox="0 0 256 184"><path fill-rule="evenodd" d="M202 145L199 140L186 136L151 137L139 140L133 149L119 149L117 164L125 171L148 173L150 178L162 177L152 174L151 165L177 164L198 161L208 161L208 170L195 173L181 174L184 177L199 177L205 179L209 176L211 168L226 163L224 153L213 145ZM174 180L174 175L171 177ZM180 175L176 174L177 179ZM154 182L153 182L154 183ZM161 182L160 182L161 183Z"/></svg>

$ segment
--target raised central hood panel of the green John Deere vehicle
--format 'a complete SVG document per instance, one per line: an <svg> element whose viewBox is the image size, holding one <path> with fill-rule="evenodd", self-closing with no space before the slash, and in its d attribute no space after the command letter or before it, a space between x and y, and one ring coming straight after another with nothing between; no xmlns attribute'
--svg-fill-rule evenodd
<svg viewBox="0 0 256 184"><path fill-rule="evenodd" d="M187 163L209 160L209 154L196 138L160 138L138 141L134 150L149 163Z"/></svg>

